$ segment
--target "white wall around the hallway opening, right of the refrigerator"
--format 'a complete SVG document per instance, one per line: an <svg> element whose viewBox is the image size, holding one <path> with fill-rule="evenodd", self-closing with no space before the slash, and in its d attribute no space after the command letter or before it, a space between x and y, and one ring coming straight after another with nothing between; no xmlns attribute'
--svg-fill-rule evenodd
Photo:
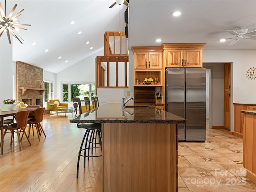
<svg viewBox="0 0 256 192"><path fill-rule="evenodd" d="M231 131L234 130L233 103L256 103L256 80L248 80L246 78L246 71L248 68L253 66L256 67L255 60L256 50L203 50L204 63L232 63L230 98ZM236 87L239 88L239 91L235 91ZM218 103L213 103L213 105L218 105ZM215 116L218 116L218 114L214 112L212 116L215 118Z"/></svg>

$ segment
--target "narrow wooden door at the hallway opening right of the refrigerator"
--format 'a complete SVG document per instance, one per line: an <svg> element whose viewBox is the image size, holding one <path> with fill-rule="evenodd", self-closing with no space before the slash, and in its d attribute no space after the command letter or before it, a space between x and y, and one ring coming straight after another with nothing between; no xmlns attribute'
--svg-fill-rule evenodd
<svg viewBox="0 0 256 192"><path fill-rule="evenodd" d="M224 63L224 117L223 126L225 129L230 130L230 66L231 63Z"/></svg>

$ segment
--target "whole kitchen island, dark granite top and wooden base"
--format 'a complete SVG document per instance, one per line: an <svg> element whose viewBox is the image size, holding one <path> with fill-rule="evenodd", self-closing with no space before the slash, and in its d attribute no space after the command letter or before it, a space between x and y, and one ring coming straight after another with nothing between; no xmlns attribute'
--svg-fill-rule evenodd
<svg viewBox="0 0 256 192"><path fill-rule="evenodd" d="M70 122L102 124L102 192L177 191L185 119L150 105L107 103Z"/></svg>

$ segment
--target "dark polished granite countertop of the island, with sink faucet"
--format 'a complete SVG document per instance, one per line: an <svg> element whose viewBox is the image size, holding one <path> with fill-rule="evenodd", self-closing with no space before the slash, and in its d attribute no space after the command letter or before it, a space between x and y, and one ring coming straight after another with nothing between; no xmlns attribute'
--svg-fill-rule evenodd
<svg viewBox="0 0 256 192"><path fill-rule="evenodd" d="M133 105L127 103L126 106ZM71 123L185 123L186 120L149 104L134 104L149 108L122 108L121 103L106 103L90 112L83 113Z"/></svg>

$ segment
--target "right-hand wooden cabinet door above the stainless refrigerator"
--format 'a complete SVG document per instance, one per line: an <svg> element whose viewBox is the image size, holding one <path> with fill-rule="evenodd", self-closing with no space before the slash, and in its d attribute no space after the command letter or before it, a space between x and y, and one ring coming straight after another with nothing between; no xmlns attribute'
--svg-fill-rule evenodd
<svg viewBox="0 0 256 192"><path fill-rule="evenodd" d="M184 50L184 67L201 67L202 63L202 50L188 49Z"/></svg>

